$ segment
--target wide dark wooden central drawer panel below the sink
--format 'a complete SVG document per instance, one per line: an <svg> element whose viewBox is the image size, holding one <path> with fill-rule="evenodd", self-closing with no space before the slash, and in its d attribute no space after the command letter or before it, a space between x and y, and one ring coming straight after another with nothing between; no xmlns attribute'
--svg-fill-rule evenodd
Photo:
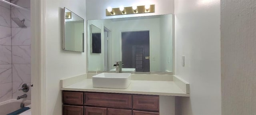
<svg viewBox="0 0 256 115"><path fill-rule="evenodd" d="M85 105L117 109L132 108L132 95L113 93L84 93L84 95Z"/></svg>

